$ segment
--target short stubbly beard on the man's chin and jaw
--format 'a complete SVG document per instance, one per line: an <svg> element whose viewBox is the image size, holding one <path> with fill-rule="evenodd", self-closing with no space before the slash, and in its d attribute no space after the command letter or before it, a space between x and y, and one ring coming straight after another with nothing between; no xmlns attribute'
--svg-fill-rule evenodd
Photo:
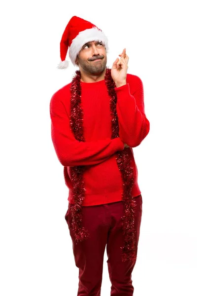
<svg viewBox="0 0 204 296"><path fill-rule="evenodd" d="M106 67L106 63L107 60L106 58L103 58L101 61L99 62L95 62L95 61L83 61L83 60L79 60L79 64L81 66L81 68L83 69L84 72L88 73L88 74L101 74Z"/></svg>

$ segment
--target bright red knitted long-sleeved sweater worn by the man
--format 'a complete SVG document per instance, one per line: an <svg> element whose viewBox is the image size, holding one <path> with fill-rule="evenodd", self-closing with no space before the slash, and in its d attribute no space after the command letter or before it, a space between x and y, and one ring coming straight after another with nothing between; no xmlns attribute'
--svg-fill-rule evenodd
<svg viewBox="0 0 204 296"><path fill-rule="evenodd" d="M150 128L144 112L141 79L127 74L127 84L116 87L116 111L119 138L111 140L110 97L105 80L81 82L81 108L86 142L77 141L70 129L70 83L54 93L50 101L51 137L61 164L64 166L68 201L72 200L70 167L86 165L83 173L86 188L82 206L100 205L122 200L122 178L117 166L118 151L127 149L134 169L133 196L139 195L137 167L133 147L147 136ZM124 148L126 143L130 148Z"/></svg>

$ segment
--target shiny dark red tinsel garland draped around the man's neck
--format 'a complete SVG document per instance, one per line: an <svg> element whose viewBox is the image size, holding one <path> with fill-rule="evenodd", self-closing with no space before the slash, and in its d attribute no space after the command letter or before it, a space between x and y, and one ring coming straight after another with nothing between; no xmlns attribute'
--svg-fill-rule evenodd
<svg viewBox="0 0 204 296"><path fill-rule="evenodd" d="M70 127L74 137L78 141L85 142L83 129L83 110L81 108L81 74L77 70L72 78L70 91ZM116 111L117 95L115 91L115 82L111 77L111 69L106 67L105 84L107 86L108 95L110 96L110 112L111 112L111 139L119 137L119 124ZM116 158L118 168L121 172L123 180L122 200L124 202L124 216L122 219L122 228L124 235L124 247L122 249L122 261L136 259L136 239L135 239L135 215L136 201L131 191L134 185L134 171L131 167L131 159L127 152L127 148L118 151ZM71 229L74 233L75 241L78 243L90 236L88 231L82 227L82 203L85 196L85 187L83 182L83 172L86 166L70 167L71 181L73 183L74 206L70 208Z"/></svg>

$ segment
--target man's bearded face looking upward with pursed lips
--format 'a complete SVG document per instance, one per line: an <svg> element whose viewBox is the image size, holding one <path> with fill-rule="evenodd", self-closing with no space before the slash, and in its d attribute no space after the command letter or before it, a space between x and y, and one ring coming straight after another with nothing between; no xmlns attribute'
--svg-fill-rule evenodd
<svg viewBox="0 0 204 296"><path fill-rule="evenodd" d="M100 41L87 42L82 46L76 62L79 69L88 74L101 74L107 63L105 46Z"/></svg>

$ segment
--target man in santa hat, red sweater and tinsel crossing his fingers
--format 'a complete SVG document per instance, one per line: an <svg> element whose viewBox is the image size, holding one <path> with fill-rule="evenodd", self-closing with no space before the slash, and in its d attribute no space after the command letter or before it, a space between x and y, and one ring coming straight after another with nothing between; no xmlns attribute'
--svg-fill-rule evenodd
<svg viewBox="0 0 204 296"><path fill-rule="evenodd" d="M133 147L149 132L141 79L127 74L126 49L111 70L101 29L73 16L60 43L78 66L51 98L51 135L69 189L65 219L79 268L78 296L100 296L106 246L111 295L132 296L142 214Z"/></svg>

